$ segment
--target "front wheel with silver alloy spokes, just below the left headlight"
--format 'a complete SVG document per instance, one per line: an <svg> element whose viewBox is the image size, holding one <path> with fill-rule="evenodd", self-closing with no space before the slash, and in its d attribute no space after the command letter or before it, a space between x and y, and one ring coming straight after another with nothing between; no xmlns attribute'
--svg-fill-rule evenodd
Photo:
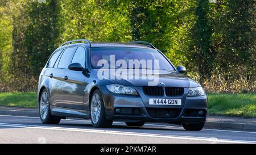
<svg viewBox="0 0 256 155"><path fill-rule="evenodd" d="M100 90L95 90L90 99L90 119L93 127L109 128L113 121L106 119L105 106Z"/></svg>

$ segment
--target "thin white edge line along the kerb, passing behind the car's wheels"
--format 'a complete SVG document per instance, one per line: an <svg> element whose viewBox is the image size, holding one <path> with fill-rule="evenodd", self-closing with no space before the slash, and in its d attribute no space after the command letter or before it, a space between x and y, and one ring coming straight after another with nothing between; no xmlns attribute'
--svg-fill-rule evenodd
<svg viewBox="0 0 256 155"><path fill-rule="evenodd" d="M15 118L32 118L32 119L40 119L39 117L30 117L30 116L13 116L13 115L0 115L0 116L8 116L8 117L15 117ZM82 121L82 122L88 122L90 123L90 120L80 120L80 119L65 119L69 121ZM114 122L115 124L125 124L122 122ZM177 126L172 126L172 125L159 125L159 124L145 124L145 125L150 125L150 126L155 126L155 127L172 127L172 128L180 128L183 129L183 127L177 127ZM226 129L203 129L208 130L208 131L225 131L225 132L240 132L240 133L255 133L252 131L236 131L236 130L226 130Z"/></svg>

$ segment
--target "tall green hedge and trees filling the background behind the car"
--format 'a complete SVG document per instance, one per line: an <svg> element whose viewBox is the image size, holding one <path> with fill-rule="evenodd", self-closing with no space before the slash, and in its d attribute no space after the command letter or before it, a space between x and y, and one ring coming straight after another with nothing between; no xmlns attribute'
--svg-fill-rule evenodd
<svg viewBox="0 0 256 155"><path fill-rule="evenodd" d="M81 38L149 41L208 91L255 91L255 3L1 1L0 91L35 91L53 50Z"/></svg>

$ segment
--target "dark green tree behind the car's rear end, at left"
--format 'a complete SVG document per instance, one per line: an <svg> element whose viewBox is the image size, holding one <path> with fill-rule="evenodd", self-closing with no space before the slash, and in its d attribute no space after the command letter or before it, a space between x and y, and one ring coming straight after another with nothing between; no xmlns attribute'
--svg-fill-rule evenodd
<svg viewBox="0 0 256 155"><path fill-rule="evenodd" d="M57 23L59 5L57 0L46 3L31 1L27 8L30 22L27 26L24 44L28 50L30 73L35 77L38 77L49 56L59 45Z"/></svg>

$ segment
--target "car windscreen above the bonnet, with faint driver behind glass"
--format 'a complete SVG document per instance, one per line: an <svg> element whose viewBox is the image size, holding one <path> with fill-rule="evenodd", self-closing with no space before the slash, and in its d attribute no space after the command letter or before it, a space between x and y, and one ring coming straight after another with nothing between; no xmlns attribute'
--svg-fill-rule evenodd
<svg viewBox="0 0 256 155"><path fill-rule="evenodd" d="M114 65L114 68L174 70L170 62L155 49L126 47L91 48L92 68L102 68L106 65L105 62L108 62L109 68ZM138 63L139 65L137 65Z"/></svg>

